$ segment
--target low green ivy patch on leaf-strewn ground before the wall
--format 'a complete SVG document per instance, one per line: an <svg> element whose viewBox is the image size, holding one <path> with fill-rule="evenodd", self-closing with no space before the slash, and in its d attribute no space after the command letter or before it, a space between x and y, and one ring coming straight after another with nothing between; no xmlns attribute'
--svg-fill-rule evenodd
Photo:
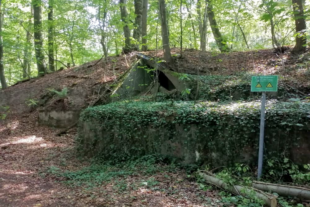
<svg viewBox="0 0 310 207"><path fill-rule="evenodd" d="M156 155L143 156L139 159L131 159L123 162L103 162L100 159L92 159L91 164L76 171L61 170L50 166L42 176L55 176L61 182L70 186L83 186L94 188L110 182L116 182L117 190L126 190L127 186L121 185L129 178L154 176L161 172L176 172L178 165L174 162L164 164L163 159ZM141 181L141 182L140 182ZM157 181L153 178L139 180L139 185L154 186Z"/></svg>

